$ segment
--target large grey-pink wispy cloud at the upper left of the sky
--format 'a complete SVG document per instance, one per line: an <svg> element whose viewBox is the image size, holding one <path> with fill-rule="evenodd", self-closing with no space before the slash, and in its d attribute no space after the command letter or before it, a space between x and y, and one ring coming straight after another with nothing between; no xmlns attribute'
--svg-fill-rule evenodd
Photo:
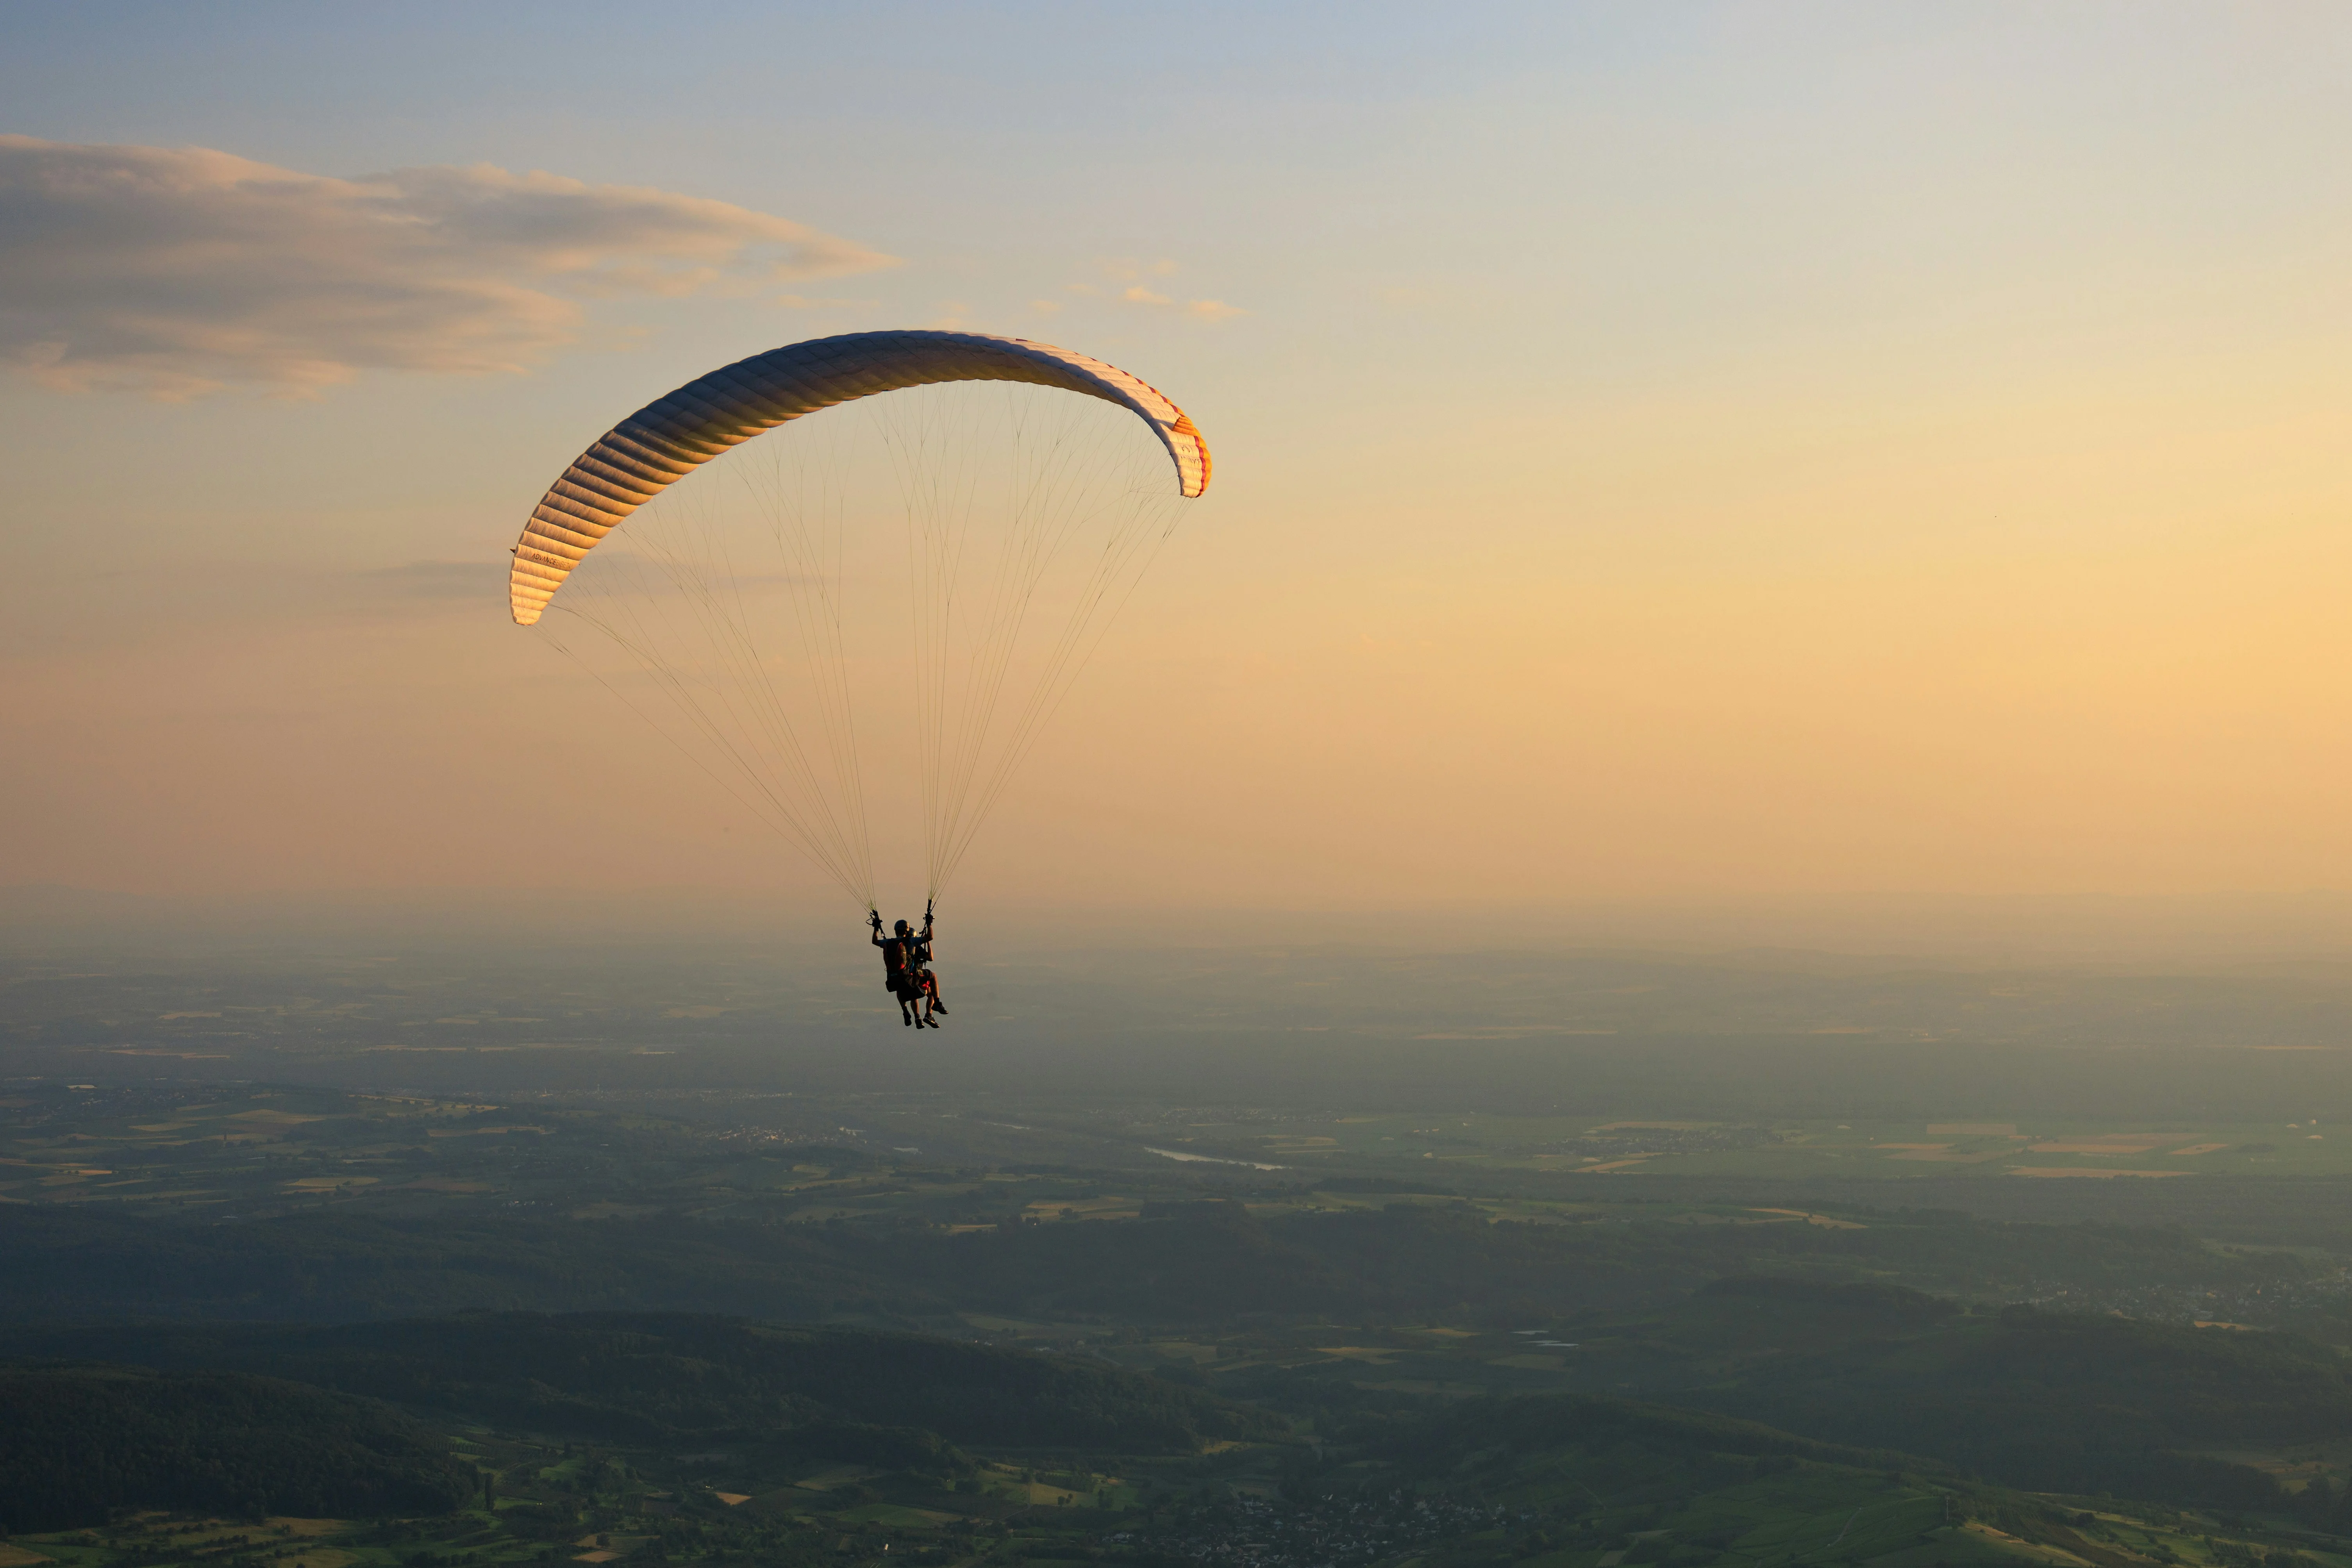
<svg viewBox="0 0 2352 1568"><path fill-rule="evenodd" d="M73 393L520 371L579 336L581 299L774 294L882 266L802 223L642 186L489 165L332 179L209 148L0 136L0 360Z"/></svg>

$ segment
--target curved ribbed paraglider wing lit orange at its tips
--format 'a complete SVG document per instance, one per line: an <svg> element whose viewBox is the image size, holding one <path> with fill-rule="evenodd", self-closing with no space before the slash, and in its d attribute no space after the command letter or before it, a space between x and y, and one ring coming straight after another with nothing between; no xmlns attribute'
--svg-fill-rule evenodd
<svg viewBox="0 0 2352 1568"><path fill-rule="evenodd" d="M515 545L508 602L539 621L555 590L623 517L696 465L837 402L938 381L1030 381L1134 409L1176 461L1185 496L1209 489L1209 447L1183 409L1087 355L978 331L851 331L790 343L689 381L637 409L548 487Z"/></svg>

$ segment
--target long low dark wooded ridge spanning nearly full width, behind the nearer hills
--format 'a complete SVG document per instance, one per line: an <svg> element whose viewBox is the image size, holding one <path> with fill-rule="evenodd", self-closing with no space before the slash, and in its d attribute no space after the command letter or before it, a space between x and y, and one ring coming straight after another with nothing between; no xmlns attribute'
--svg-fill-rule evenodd
<svg viewBox="0 0 2352 1568"><path fill-rule="evenodd" d="M1903 1213L1813 1225L1526 1225L1470 1204L1141 1220L929 1225L581 1222L485 1211L282 1213L221 1225L0 1206L0 1321L360 1321L489 1312L729 1312L917 1321L948 1312L1230 1324L1237 1316L1524 1326L1663 1307L1726 1274L1898 1276L1971 1298L2263 1286L2293 1258L2161 1229Z"/></svg>

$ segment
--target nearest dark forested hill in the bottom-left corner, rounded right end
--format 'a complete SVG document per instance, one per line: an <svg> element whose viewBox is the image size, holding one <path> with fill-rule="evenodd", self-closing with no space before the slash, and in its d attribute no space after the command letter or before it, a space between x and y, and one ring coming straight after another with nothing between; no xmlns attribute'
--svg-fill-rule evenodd
<svg viewBox="0 0 2352 1568"><path fill-rule="evenodd" d="M473 1495L449 1443L367 1399L238 1373L0 1371L12 1530L115 1509L440 1514Z"/></svg>

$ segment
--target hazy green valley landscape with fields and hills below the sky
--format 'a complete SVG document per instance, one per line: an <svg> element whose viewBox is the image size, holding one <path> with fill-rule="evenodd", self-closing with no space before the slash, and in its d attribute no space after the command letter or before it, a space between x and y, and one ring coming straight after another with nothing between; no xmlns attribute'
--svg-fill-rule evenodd
<svg viewBox="0 0 2352 1568"><path fill-rule="evenodd" d="M19 943L16 1552L2352 1561L2336 964L386 945Z"/></svg>

